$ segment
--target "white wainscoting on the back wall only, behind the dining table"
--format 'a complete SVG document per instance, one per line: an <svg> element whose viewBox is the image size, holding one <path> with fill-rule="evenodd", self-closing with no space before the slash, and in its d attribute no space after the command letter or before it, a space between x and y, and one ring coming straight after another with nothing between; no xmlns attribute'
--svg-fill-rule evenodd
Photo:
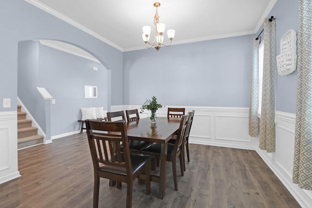
<svg viewBox="0 0 312 208"><path fill-rule="evenodd" d="M168 107L181 108L182 106L166 106L157 110L158 117L166 117ZM184 106L183 106L184 108ZM138 109L140 106L112 106L111 111ZM222 108L222 107L185 107L185 113L195 111L190 143L214 145L222 147L254 150L256 142L248 133L248 108ZM149 116L143 111L140 116Z"/></svg>

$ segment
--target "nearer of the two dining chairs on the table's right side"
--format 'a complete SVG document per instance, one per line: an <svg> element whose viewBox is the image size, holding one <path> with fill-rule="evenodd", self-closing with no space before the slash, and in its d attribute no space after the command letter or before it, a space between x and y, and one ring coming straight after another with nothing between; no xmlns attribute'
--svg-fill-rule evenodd
<svg viewBox="0 0 312 208"><path fill-rule="evenodd" d="M183 148L183 141L186 127L187 127L187 121L188 121L189 115L182 115L179 130L176 136L176 144L167 144L167 161L172 162L172 171L174 176L174 184L175 184L175 190L177 190L177 176L176 176L176 158L179 157L180 160L180 169L181 169L181 175L184 176L183 171L183 158L182 158L182 148ZM153 143L147 148L143 149L142 154L151 156L152 159L160 160L160 153L161 153L161 144L160 143Z"/></svg>

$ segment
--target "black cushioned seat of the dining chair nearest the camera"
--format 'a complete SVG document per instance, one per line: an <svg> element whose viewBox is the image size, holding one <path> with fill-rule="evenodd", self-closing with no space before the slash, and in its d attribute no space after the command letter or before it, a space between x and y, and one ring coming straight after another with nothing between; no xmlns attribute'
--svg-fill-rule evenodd
<svg viewBox="0 0 312 208"><path fill-rule="evenodd" d="M114 156L115 156L115 159L117 160L116 153L114 154ZM123 152L120 153L120 156L121 156L121 160L124 161ZM142 166L148 163L150 156L142 155L142 154L130 154L130 158L131 158L132 174L135 174L137 170L139 170ZM100 165L99 170L104 171L104 172L120 174L120 175L127 175L126 168L120 168L120 167L110 166L110 165L105 165L105 164Z"/></svg>

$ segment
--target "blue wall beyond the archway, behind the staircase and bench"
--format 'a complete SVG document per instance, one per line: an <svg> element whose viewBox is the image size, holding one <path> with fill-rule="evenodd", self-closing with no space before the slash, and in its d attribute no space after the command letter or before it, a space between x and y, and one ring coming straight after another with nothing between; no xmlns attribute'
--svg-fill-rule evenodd
<svg viewBox="0 0 312 208"><path fill-rule="evenodd" d="M98 71L93 71L92 66L97 66ZM39 41L22 41L18 68L18 96L44 132L46 106L36 87L44 87L56 99L56 104L50 105L52 136L79 130L81 107L103 106L107 110L110 77L98 62L41 45ZM84 98L84 85L97 86L98 98Z"/></svg>

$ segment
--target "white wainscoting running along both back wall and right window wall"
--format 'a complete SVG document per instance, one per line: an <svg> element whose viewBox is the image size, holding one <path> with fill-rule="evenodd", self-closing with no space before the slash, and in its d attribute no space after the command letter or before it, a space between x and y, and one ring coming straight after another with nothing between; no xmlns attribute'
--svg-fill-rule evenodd
<svg viewBox="0 0 312 208"><path fill-rule="evenodd" d="M166 106L179 108L181 106ZM140 106L112 106L111 111L139 109ZM167 108L159 109L157 116L167 116ZM275 112L276 151L267 153L259 149L259 138L249 136L248 108L185 107L185 112L195 110L190 143L229 148L255 150L301 207L311 208L312 191L300 189L292 183L295 114ZM141 114L140 114L141 116ZM142 117L149 116L144 111Z"/></svg>

